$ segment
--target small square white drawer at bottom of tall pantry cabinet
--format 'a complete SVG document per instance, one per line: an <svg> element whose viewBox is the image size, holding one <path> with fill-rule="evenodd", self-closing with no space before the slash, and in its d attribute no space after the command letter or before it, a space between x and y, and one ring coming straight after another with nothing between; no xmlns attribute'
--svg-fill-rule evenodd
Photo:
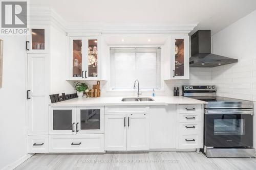
<svg viewBox="0 0 256 170"><path fill-rule="evenodd" d="M49 137L48 135L29 135L28 153L48 153Z"/></svg>

